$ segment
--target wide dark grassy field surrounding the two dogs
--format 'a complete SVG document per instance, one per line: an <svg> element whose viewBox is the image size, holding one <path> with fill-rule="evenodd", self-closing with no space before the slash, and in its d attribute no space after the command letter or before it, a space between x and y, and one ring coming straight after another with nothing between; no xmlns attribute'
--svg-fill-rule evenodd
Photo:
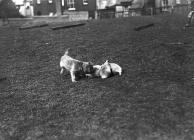
<svg viewBox="0 0 194 140"><path fill-rule="evenodd" d="M138 25L154 27L136 32ZM194 137L193 28L184 18L91 21L52 31L0 28L0 138L187 139ZM120 64L123 76L71 83L66 48L80 60Z"/></svg>

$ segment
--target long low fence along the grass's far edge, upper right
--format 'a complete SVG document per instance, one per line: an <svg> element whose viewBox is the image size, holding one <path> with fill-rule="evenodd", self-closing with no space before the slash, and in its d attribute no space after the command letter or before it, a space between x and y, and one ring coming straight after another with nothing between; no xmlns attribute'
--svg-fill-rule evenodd
<svg viewBox="0 0 194 140"><path fill-rule="evenodd" d="M176 13L186 15L189 12L188 5L175 5L165 7L148 7L148 8L129 8L128 10L116 11L116 8L102 9L97 11L97 18L117 18L117 17L130 17L140 15L158 15L166 13Z"/></svg>

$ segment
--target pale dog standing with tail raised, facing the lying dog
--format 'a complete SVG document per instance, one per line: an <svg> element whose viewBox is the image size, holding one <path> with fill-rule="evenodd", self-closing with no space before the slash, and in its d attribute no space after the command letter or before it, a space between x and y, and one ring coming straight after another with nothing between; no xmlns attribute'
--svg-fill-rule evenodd
<svg viewBox="0 0 194 140"><path fill-rule="evenodd" d="M63 73L64 69L68 70L71 74L72 82L76 81L76 76L88 76L94 73L93 64L91 62L83 62L76 60L68 55L68 50L66 50L65 54L61 57L60 67L61 72Z"/></svg>

